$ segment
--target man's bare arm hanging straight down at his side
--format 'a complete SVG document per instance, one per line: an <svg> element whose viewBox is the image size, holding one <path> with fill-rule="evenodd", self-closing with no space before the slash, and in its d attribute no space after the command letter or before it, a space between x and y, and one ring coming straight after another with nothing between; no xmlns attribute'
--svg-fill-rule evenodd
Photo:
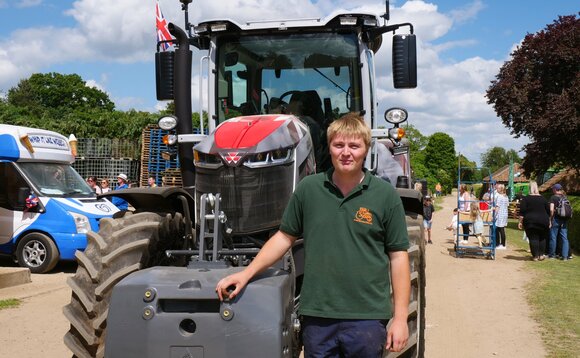
<svg viewBox="0 0 580 358"><path fill-rule="evenodd" d="M407 345L409 327L409 298L411 296L411 273L407 251L389 252L391 261L391 284L393 286L394 314L387 332L387 349L400 352Z"/></svg>

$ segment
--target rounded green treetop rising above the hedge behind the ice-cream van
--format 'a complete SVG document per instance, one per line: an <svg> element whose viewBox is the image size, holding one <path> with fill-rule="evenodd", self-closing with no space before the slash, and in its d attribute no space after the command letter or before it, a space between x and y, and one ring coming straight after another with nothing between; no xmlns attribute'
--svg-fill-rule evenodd
<svg viewBox="0 0 580 358"><path fill-rule="evenodd" d="M76 74L35 73L8 91L9 104L31 111L45 109L113 111L115 104L98 88L88 87Z"/></svg>

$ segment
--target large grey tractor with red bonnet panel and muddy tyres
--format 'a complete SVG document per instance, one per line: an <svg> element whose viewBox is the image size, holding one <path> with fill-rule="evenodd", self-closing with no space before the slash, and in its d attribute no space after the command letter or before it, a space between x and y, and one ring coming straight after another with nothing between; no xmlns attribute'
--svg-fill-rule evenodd
<svg viewBox="0 0 580 358"><path fill-rule="evenodd" d="M411 188L407 111L384 114L379 127L375 56L393 33L395 88L416 87L416 39L410 23L336 12L324 18L170 23L171 51L155 57L157 98L175 114L159 120L179 157L182 187L116 191L134 211L100 221L76 253L65 344L75 357L299 357L304 250L255 277L233 300L215 286L242 270L277 230L297 183L329 168L326 128L358 112L372 128L365 166L397 188L411 248L410 339L422 357L425 242L421 193ZM383 24L381 24L383 22ZM409 33L397 34L400 28ZM192 49L200 61L200 119L193 133ZM204 95L202 95L204 94ZM200 100L201 102L202 100ZM172 155L172 153L167 153ZM111 194L106 194L108 196ZM385 292L389 295L389 292Z"/></svg>

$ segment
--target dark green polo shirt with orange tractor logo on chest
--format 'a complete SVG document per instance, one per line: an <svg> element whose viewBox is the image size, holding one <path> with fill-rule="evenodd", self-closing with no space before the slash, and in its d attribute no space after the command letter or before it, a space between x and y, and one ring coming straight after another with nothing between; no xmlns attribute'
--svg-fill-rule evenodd
<svg viewBox="0 0 580 358"><path fill-rule="evenodd" d="M299 313L337 319L391 318L390 251L409 238L401 198L369 172L344 197L333 169L304 178L284 212L280 230L304 238Z"/></svg>

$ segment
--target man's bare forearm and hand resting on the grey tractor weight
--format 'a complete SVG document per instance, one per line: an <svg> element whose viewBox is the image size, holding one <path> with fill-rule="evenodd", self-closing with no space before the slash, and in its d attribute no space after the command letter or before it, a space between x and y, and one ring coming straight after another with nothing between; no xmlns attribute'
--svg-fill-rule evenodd
<svg viewBox="0 0 580 358"><path fill-rule="evenodd" d="M266 244L262 247L258 255L256 255L256 258L252 260L248 267L243 271L224 277L218 282L215 290L220 301L223 301L224 297L230 299L236 297L252 277L280 260L292 247L294 241L296 241L296 237L278 230L274 236L266 241ZM228 293L227 289L230 286L235 286L235 289Z"/></svg>

